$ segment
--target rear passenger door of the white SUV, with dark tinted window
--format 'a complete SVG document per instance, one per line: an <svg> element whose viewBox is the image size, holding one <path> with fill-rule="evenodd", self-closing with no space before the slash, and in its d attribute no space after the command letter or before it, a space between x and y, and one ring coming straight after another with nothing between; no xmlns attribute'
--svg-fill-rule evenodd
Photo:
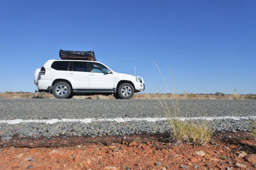
<svg viewBox="0 0 256 170"><path fill-rule="evenodd" d="M73 89L88 89L89 72L87 62L71 61L67 71L67 79L72 83Z"/></svg>

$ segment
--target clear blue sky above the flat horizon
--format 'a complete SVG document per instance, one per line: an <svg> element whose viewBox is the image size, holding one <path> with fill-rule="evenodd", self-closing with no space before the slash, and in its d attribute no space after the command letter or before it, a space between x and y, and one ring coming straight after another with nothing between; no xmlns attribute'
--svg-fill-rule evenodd
<svg viewBox="0 0 256 170"><path fill-rule="evenodd" d="M95 51L143 93L256 94L255 0L12 0L0 2L0 91L31 91L59 50ZM173 91L171 91L173 92Z"/></svg>

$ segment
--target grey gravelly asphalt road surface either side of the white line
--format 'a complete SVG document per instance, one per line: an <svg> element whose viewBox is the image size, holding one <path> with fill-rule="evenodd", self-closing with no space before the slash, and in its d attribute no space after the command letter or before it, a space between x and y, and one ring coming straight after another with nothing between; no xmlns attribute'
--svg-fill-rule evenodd
<svg viewBox="0 0 256 170"><path fill-rule="evenodd" d="M171 100L167 100L172 107ZM180 100L183 117L256 116L256 100ZM165 117L158 100L111 99L0 99L0 120L114 119ZM214 120L218 131L249 130L248 120ZM157 133L168 130L167 121L0 123L0 136L8 140L23 136L81 136Z"/></svg>

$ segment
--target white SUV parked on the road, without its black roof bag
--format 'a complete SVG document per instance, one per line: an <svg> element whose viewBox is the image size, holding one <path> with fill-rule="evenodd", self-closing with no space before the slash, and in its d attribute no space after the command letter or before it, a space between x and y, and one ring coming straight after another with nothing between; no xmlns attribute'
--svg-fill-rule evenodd
<svg viewBox="0 0 256 170"><path fill-rule="evenodd" d="M145 89L142 77L116 73L100 62L85 60L50 59L35 70L34 82L39 92L51 93L58 99L95 94L131 99Z"/></svg>

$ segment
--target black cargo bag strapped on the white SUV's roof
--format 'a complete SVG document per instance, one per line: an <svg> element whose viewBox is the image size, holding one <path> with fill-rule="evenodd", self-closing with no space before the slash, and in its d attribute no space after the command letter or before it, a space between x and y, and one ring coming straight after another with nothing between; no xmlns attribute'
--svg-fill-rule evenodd
<svg viewBox="0 0 256 170"><path fill-rule="evenodd" d="M61 59L76 59L96 61L94 51L64 51L60 50Z"/></svg>

